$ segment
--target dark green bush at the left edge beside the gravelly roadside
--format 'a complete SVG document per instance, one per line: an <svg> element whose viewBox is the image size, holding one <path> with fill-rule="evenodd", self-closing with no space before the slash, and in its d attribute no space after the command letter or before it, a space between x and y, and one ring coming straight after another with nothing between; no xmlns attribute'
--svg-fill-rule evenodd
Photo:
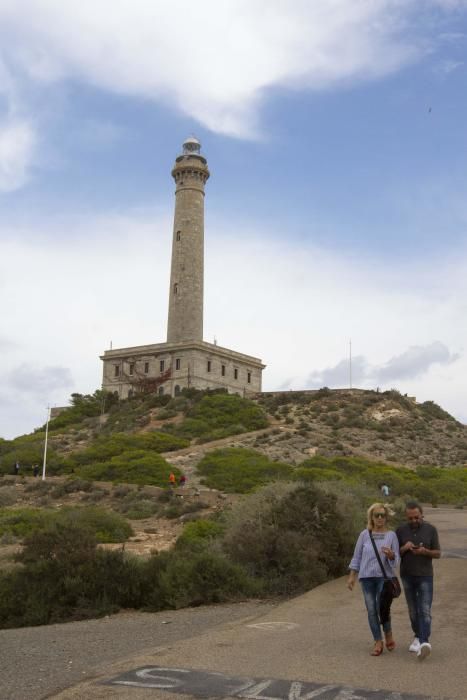
<svg viewBox="0 0 467 700"><path fill-rule="evenodd" d="M142 565L97 549L91 531L66 523L30 535L22 566L0 576L0 627L99 617L141 604Z"/></svg>

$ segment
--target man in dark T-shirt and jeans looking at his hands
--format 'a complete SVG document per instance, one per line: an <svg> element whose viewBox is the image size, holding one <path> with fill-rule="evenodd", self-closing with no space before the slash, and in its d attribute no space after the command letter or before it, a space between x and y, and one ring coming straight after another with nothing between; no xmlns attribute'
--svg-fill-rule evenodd
<svg viewBox="0 0 467 700"><path fill-rule="evenodd" d="M409 609L414 640L409 651L423 661L431 654L431 604L433 601L433 559L439 559L438 531L423 520L419 503L406 504L407 523L396 531L401 554L401 579Z"/></svg>

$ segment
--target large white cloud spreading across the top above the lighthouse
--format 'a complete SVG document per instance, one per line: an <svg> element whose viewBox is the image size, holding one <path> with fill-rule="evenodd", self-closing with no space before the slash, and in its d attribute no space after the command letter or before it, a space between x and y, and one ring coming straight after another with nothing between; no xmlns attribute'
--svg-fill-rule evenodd
<svg viewBox="0 0 467 700"><path fill-rule="evenodd" d="M169 102L207 128L258 134L267 89L379 77L422 52L413 0L4 0L2 47L17 75L77 79ZM420 25L420 12L417 11Z"/></svg>

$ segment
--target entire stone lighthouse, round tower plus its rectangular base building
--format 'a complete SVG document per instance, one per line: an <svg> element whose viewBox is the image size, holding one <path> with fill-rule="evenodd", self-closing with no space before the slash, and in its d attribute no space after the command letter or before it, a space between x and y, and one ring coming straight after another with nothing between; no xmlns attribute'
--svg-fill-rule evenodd
<svg viewBox="0 0 467 700"><path fill-rule="evenodd" d="M172 170L175 212L167 342L106 350L102 388L120 398L137 392L175 396L182 389L261 391L265 365L251 355L203 341L204 186L209 178L200 143L189 138Z"/></svg>

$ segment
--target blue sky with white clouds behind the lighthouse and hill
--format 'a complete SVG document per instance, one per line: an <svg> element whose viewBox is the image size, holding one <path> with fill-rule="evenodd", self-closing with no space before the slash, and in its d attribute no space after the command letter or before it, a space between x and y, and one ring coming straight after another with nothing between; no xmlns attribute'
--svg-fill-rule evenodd
<svg viewBox="0 0 467 700"><path fill-rule="evenodd" d="M0 437L165 341L191 134L205 340L467 423L467 0L0 0Z"/></svg>

